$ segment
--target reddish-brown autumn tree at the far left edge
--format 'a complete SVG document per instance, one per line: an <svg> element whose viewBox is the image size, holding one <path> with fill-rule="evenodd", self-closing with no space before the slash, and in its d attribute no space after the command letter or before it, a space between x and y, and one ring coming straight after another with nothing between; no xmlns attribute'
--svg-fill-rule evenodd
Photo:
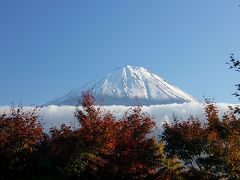
<svg viewBox="0 0 240 180"><path fill-rule="evenodd" d="M31 158L44 136L42 125L34 110L24 111L22 106L0 114L0 177L27 176Z"/></svg>

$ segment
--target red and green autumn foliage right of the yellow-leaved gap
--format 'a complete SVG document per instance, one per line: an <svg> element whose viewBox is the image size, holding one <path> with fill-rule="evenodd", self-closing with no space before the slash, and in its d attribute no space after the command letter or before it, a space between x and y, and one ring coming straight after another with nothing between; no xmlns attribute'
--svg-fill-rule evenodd
<svg viewBox="0 0 240 180"><path fill-rule="evenodd" d="M164 125L167 155L184 162L187 179L239 179L240 119L231 109L220 118L217 106L209 100L205 116L206 123L191 117Z"/></svg>

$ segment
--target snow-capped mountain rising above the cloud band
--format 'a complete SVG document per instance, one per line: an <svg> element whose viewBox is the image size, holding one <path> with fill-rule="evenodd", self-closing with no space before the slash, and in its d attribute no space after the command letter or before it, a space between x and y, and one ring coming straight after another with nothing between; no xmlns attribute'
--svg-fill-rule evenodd
<svg viewBox="0 0 240 180"><path fill-rule="evenodd" d="M96 98L96 103L102 105L156 105L198 101L147 69L128 65L115 69L96 83L73 89L45 105L77 105L85 91L89 91Z"/></svg>

